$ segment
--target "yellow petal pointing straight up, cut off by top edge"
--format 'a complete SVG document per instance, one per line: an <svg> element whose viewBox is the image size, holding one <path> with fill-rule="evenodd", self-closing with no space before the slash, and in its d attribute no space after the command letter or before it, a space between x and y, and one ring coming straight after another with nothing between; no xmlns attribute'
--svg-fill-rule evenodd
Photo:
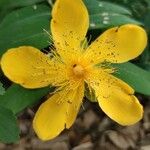
<svg viewBox="0 0 150 150"><path fill-rule="evenodd" d="M55 2L51 31L55 46L62 57L80 50L80 43L85 38L88 26L88 12L82 0Z"/></svg>

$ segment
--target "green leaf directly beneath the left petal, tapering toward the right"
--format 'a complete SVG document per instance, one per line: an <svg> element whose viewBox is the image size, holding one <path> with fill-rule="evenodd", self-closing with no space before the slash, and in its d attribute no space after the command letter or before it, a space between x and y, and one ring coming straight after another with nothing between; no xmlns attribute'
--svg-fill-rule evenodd
<svg viewBox="0 0 150 150"><path fill-rule="evenodd" d="M52 91L50 87L25 89L20 85L14 84L7 89L4 95L0 95L0 105L12 110L16 114L38 102L50 91Z"/></svg>

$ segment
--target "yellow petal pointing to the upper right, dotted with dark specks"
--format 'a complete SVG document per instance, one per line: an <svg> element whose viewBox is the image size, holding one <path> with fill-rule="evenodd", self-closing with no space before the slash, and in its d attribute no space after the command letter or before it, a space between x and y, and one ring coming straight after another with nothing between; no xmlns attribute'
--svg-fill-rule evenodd
<svg viewBox="0 0 150 150"><path fill-rule="evenodd" d="M126 24L105 31L86 51L91 63L103 61L122 63L139 56L147 45L143 28Z"/></svg>

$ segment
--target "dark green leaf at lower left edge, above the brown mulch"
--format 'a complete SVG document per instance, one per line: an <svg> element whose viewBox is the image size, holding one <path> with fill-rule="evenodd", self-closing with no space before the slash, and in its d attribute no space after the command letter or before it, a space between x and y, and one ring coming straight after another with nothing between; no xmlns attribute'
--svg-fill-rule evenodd
<svg viewBox="0 0 150 150"><path fill-rule="evenodd" d="M19 127L13 112L0 106L0 141L14 143L19 140Z"/></svg>

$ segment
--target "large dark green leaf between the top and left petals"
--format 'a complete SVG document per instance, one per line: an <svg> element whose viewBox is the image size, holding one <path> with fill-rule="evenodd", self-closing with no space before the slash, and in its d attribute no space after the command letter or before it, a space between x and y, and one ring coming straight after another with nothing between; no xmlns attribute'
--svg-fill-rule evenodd
<svg viewBox="0 0 150 150"><path fill-rule="evenodd" d="M50 8L46 5L25 7L8 14L0 24L0 55L21 45L44 48L49 45Z"/></svg>

